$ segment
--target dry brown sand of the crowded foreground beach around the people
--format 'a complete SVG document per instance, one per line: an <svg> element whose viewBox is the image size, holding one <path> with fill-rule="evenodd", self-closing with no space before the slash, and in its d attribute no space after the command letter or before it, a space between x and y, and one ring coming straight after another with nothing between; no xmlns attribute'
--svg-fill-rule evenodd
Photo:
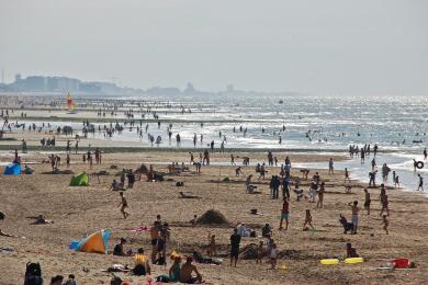
<svg viewBox="0 0 428 285"><path fill-rule="evenodd" d="M251 153L259 159L266 153ZM292 162L324 160L327 157L292 155ZM42 161L44 155L31 153L30 161ZM279 155L283 161L284 155ZM143 247L150 252L149 233L136 233L128 228L150 225L157 214L171 226L172 249L190 253L200 250L205 253L209 232L215 233L219 244L219 255L224 259L222 266L198 264L200 272L209 284L424 284L428 281L426 260L428 233L426 210L427 200L417 194L404 193L399 190L388 190L391 217L390 235L382 230L379 204L379 190L372 189L372 215L361 212L360 231L358 235L343 235L338 223L339 214L350 218L347 204L354 200L363 204L362 186L353 182L352 194L345 194L343 174L337 172L328 175L320 171L326 182L325 206L316 209L315 204L307 201L295 201L291 193L290 229L279 231L279 217L282 203L269 198L269 180L260 181L258 190L261 194L246 194L245 176L235 176L235 167L204 167L202 175L189 172L181 175L170 175L173 181L146 182L138 181L133 190L125 192L128 200L131 216L123 219L117 204L119 193L109 191L109 184L117 170L111 170L111 164L122 168L136 168L145 161L189 161L187 152L145 152L145 153L104 153L103 164L89 170L81 163L81 156L72 156L71 170L76 173L89 173L105 170L111 175L90 176L90 186L70 187L71 175L42 174L49 171L49 164L34 164L35 174L22 176L0 175L0 210L5 219L0 221L0 228L8 233L25 238L0 237L0 247L11 247L13 252L0 252L0 284L22 284L25 263L29 261L42 264L46 284L50 276L70 273L76 275L79 284L109 284L110 275L101 270L114 263L133 264L132 258L113 256L112 254L91 254L71 252L68 249L71 239L80 239L98 229L110 228L113 237L110 249L121 237L128 240L126 249L136 250ZM4 158L3 158L4 160ZM227 155L214 155L214 161L228 161ZM63 163L65 158L63 155ZM239 161L240 163L240 161ZM64 168L64 167L63 167ZM166 171L166 166L156 166L156 170ZM193 171L194 169L191 168ZM279 168L268 168L269 175L277 174ZM245 168L245 174L254 173L254 168ZM311 174L314 173L312 170ZM228 175L230 182L215 183ZM300 176L293 169L292 175ZM183 181L184 187L176 187L176 181ZM307 182L303 189L307 192ZM201 200L179 198L179 191L191 192ZM217 228L207 226L189 227L188 221L193 215L202 215L205 210L215 208L222 212L230 221L230 227ZM262 215L250 215L249 210L257 208ZM304 212L309 208L317 231L302 231ZM53 225L30 225L29 216L43 214L53 219ZM269 223L273 226L273 238L279 251L284 251L286 269L269 270L264 262L256 264L255 260L241 260L237 269L228 264L228 240L233 226L245 223L260 232L261 226ZM241 248L251 242L258 243L259 238L244 238ZM319 260L339 254L345 255L346 243L352 242L358 253L367 262L362 264L338 264L323 266ZM409 258L418 265L407 271L376 271L384 262L378 259ZM170 264L170 262L169 262ZM89 270L89 272L83 271ZM153 265L153 276L166 274L168 267ZM146 284L145 277L119 274L123 280Z"/></svg>

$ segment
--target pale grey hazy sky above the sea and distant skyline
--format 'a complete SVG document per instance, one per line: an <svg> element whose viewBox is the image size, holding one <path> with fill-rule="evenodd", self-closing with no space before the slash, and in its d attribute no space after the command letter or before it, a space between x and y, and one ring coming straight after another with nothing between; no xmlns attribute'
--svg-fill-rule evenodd
<svg viewBox="0 0 428 285"><path fill-rule="evenodd" d="M428 1L0 0L0 68L7 82L428 94Z"/></svg>

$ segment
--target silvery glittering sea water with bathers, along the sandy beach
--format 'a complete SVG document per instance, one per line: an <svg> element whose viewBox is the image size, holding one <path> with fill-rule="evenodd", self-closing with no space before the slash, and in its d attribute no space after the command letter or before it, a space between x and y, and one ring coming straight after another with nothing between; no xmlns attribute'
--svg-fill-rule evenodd
<svg viewBox="0 0 428 285"><path fill-rule="evenodd" d="M416 173L413 168L413 159L424 159L420 155L428 139L428 98L425 96L282 96L230 93L210 96L119 98L121 99L125 103L123 110L134 110L136 125L132 130L125 127L121 134L114 134L108 139L121 141L123 146L126 146L126 141L138 141L142 146L149 147L148 134L155 136L155 139L157 136L162 138L162 142L155 144L154 148L177 147L177 134L181 136L181 147L187 148L193 147L194 134L198 136L198 148L209 148L209 144L214 140L217 149L224 140L226 149L330 151L347 156L349 145L371 145L372 149L378 145L382 151L376 157L379 168L387 163L399 175L402 186L416 189L416 173L421 173L423 176L427 174L427 168L417 170ZM148 123L148 134L144 132L146 123L143 121L143 138L136 132L140 113L136 112L138 107L135 104L129 103L137 101L151 102L151 110L162 119L160 127L157 123ZM182 114L182 109L190 109L191 113ZM119 112L117 118L124 118L124 114ZM146 114L146 118L153 117ZM171 141L167 135L169 123L172 124ZM82 128L82 124L76 122L50 124L53 128L64 124L71 125L75 129ZM93 124L95 129L110 125ZM240 132L240 127L247 132ZM103 134L98 132L93 137L104 139ZM359 158L353 158L336 162L335 167L348 167L351 176L368 181L371 159L373 157L368 157L365 163L361 163ZM325 164L311 166L327 168L327 161ZM393 184L391 176L392 173L388 183ZM379 173L378 182L381 180Z"/></svg>

